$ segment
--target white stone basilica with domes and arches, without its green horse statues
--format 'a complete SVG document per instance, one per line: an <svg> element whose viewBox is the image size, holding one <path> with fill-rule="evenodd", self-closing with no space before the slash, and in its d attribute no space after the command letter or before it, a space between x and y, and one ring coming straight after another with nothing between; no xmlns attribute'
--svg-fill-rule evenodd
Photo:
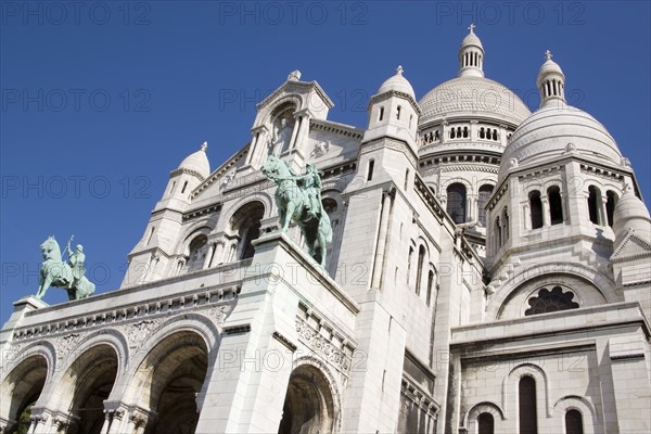
<svg viewBox="0 0 651 434"><path fill-rule="evenodd" d="M14 302L0 433L650 432L630 162L551 53L533 113L484 56L471 26L420 100L398 67L363 127L291 73L250 143L171 168L119 289ZM328 238L282 230L270 156L312 177Z"/></svg>

